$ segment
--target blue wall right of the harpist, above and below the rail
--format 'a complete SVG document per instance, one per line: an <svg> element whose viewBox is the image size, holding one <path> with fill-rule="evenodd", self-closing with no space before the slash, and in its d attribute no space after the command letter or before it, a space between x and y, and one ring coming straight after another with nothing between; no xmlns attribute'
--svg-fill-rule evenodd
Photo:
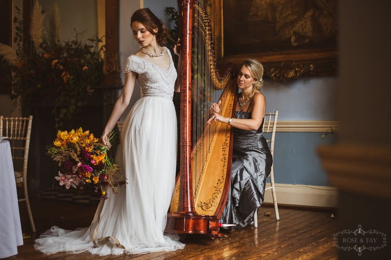
<svg viewBox="0 0 391 260"><path fill-rule="evenodd" d="M262 92L267 112L279 111L279 121L337 120L336 77L308 77L292 82L265 80ZM336 141L321 133L280 132L275 137L274 171L277 183L330 186L316 147Z"/></svg>

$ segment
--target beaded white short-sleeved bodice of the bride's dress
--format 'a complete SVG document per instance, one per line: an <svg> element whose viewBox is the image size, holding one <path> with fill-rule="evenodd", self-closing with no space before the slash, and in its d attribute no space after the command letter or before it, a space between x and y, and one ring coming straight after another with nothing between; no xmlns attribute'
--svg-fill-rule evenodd
<svg viewBox="0 0 391 260"><path fill-rule="evenodd" d="M124 73L134 71L138 74L143 97L173 99L176 70L170 50L167 47L164 48L170 57L170 66L167 70L135 55L130 55L126 60Z"/></svg>

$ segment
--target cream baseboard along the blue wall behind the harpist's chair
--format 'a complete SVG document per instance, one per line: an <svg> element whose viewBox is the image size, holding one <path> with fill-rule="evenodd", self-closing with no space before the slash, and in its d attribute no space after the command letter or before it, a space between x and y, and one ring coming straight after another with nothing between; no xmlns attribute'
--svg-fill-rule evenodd
<svg viewBox="0 0 391 260"><path fill-rule="evenodd" d="M329 186L276 183L277 203L308 207L335 208L337 189ZM266 183L266 188L270 183ZM265 192L266 203L273 203L271 189Z"/></svg>

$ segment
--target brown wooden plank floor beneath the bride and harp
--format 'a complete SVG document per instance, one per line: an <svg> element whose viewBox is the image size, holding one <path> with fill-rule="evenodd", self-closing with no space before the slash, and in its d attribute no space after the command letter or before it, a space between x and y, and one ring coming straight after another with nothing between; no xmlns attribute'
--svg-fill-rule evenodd
<svg viewBox="0 0 391 260"><path fill-rule="evenodd" d="M97 205L67 204L42 199L32 199L31 203L37 234L52 225L65 229L88 226ZM21 214L25 214L23 204L20 204L20 210ZM183 250L146 255L99 257L89 253L58 253L46 256L34 250L32 236L24 240L24 245L18 247L18 255L6 259L337 259L332 238L335 219L330 215L329 211L281 207L280 221L276 221L273 207L262 206L258 216L258 228L248 226L215 240L202 236L187 236L183 240L186 243ZM31 235L27 221L27 218L22 217L22 229Z"/></svg>

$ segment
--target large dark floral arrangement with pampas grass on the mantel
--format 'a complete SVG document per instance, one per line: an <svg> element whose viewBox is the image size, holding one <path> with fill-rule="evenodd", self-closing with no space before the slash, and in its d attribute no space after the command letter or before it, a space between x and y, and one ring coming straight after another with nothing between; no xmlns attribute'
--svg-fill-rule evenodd
<svg viewBox="0 0 391 260"><path fill-rule="evenodd" d="M23 49L22 13L18 7L16 9L15 46L0 44L0 58L6 61L3 66L11 72L12 98L19 100L23 107L31 100L49 102L56 107L56 121L70 119L93 93L91 86L99 85L102 80L103 50L98 49L102 40L82 40L83 34L75 30L74 40L60 43L57 6L54 6L45 33L45 13L36 1L31 14L29 32L33 44L29 54Z"/></svg>

